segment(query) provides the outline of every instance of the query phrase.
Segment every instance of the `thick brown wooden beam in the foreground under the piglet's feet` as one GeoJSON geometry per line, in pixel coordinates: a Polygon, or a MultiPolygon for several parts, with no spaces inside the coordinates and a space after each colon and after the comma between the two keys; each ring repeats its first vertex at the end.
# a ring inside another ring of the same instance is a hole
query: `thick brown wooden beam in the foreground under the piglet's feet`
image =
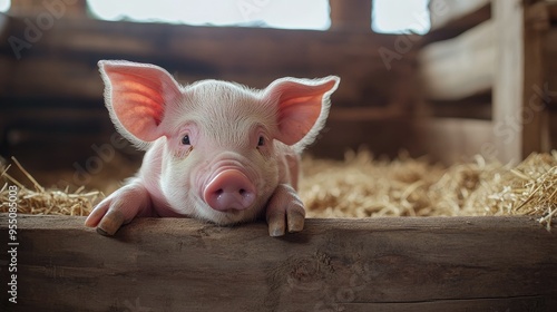
{"type": "Polygon", "coordinates": [[[530,217],[307,220],[284,238],[263,223],[141,218],[105,237],[82,222],[18,217],[19,303],[2,289],[2,311],[557,309],[557,235],[530,217]]]}

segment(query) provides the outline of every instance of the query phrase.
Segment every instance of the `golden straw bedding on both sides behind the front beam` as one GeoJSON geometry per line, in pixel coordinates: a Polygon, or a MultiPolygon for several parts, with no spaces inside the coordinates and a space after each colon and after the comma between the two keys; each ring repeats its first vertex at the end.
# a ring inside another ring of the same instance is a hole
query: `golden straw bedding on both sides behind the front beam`
{"type": "MultiPolygon", "coordinates": [[[[532,154],[510,168],[481,157],[442,167],[405,155],[374,159],[362,150],[346,153],[344,162],[305,157],[302,168],[300,195],[309,217],[532,215],[549,228],[557,211],[557,152],[532,154]]],[[[88,215],[104,196],[82,187],[45,189],[26,175],[35,189],[2,173],[19,187],[20,213],[88,215]]],[[[8,211],[8,182],[0,212],[8,211]]]]}

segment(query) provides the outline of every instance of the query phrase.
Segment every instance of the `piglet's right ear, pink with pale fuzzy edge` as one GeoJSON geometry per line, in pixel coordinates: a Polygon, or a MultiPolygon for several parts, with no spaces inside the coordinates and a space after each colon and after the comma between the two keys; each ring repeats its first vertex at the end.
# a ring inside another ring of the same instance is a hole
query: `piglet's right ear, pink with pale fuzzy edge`
{"type": "Polygon", "coordinates": [[[329,97],[339,86],[340,78],[322,79],[282,78],[265,89],[265,97],[277,106],[276,139],[300,148],[311,144],[325,124],[329,97]]]}

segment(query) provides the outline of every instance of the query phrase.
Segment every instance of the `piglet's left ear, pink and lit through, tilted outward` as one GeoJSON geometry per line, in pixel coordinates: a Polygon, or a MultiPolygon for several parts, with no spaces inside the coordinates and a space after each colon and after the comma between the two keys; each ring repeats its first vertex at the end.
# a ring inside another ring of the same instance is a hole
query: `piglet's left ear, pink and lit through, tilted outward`
{"type": "Polygon", "coordinates": [[[180,96],[179,86],[163,68],[123,60],[101,60],[105,101],[118,130],[141,145],[165,134],[167,105],[180,96]]]}

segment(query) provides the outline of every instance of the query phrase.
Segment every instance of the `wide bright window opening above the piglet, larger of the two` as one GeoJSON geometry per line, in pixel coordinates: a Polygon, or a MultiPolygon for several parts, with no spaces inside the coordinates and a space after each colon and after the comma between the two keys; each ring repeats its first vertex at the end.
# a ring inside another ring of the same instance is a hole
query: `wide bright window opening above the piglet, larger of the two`
{"type": "Polygon", "coordinates": [[[328,0],[88,0],[102,20],[325,30],[328,0]]]}

